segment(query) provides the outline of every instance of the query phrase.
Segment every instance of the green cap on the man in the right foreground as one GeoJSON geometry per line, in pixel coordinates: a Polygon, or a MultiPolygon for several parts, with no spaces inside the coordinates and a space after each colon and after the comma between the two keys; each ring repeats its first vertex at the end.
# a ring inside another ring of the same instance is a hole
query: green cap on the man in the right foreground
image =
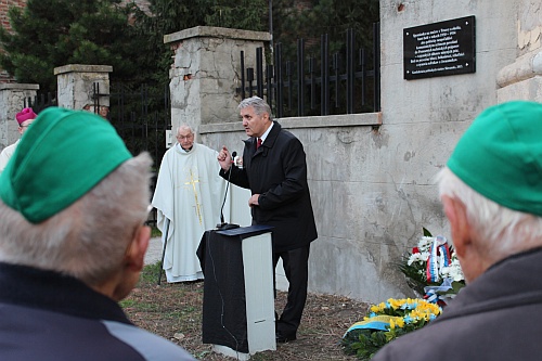
{"type": "Polygon", "coordinates": [[[487,198],[542,216],[542,104],[487,108],[460,139],[448,167],[487,198]]]}

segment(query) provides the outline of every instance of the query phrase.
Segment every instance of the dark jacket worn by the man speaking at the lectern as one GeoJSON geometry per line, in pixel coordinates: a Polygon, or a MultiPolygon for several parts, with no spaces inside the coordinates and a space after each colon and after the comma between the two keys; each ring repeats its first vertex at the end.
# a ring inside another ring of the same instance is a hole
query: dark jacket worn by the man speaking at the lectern
{"type": "MultiPolygon", "coordinates": [[[[307,183],[307,162],[301,142],[274,121],[263,144],[244,141],[243,168],[232,166],[230,181],[260,194],[251,208],[253,223],[273,229],[273,252],[299,248],[318,237],[307,183]]],[[[220,175],[228,179],[228,172],[220,175]]]]}

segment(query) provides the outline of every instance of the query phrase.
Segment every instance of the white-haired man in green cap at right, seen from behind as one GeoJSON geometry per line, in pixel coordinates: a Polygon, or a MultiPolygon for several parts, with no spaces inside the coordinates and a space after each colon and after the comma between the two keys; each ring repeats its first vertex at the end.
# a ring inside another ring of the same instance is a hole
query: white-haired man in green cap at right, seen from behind
{"type": "Polygon", "coordinates": [[[540,360],[542,104],[482,112],[438,179],[467,286],[373,360],[540,360]]]}

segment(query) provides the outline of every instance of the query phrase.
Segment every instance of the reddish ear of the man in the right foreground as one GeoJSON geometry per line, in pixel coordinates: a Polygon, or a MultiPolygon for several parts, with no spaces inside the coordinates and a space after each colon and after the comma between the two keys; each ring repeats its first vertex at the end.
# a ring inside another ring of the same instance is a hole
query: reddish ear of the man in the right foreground
{"type": "Polygon", "coordinates": [[[468,228],[465,205],[461,201],[448,195],[443,195],[441,201],[444,206],[444,214],[450,221],[452,243],[455,253],[459,257],[464,257],[470,244],[470,231],[468,228]]]}

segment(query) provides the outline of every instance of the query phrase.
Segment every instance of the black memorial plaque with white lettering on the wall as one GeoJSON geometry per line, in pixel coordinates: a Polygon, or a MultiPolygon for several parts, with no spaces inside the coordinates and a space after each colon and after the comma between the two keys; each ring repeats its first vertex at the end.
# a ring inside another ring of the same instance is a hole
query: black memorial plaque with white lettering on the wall
{"type": "Polygon", "coordinates": [[[476,72],[475,16],[403,29],[404,79],[476,72]]]}

